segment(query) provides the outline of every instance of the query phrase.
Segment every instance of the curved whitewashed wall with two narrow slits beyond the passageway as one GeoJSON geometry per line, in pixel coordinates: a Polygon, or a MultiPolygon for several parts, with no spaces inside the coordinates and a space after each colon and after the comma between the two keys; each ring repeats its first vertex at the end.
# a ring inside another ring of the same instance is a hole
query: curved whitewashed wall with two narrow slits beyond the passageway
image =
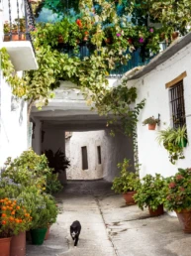
{"type": "Polygon", "coordinates": [[[71,166],[67,179],[112,181],[119,174],[117,164],[124,158],[134,159],[131,140],[121,133],[113,138],[108,131],[73,132],[65,142],[66,157],[71,166]],[[87,147],[88,170],[82,170],[81,147],[87,147]],[[101,165],[98,164],[97,147],[101,147],[101,165]]]}

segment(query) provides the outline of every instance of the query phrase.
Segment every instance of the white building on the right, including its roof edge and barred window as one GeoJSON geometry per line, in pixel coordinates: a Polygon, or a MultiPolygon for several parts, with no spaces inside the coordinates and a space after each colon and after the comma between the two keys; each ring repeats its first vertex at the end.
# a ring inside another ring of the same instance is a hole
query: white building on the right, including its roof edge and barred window
{"type": "Polygon", "coordinates": [[[130,76],[128,86],[138,88],[137,102],[143,98],[146,99],[138,123],[139,159],[140,164],[142,164],[141,177],[155,173],[168,177],[174,175],[178,168],[190,168],[191,34],[178,39],[137,74],[130,76]],[[172,93],[175,93],[173,97],[177,101],[175,107],[172,107],[172,93]],[[178,111],[178,107],[182,108],[183,106],[190,144],[184,149],[185,159],[178,160],[175,165],[172,165],[168,159],[168,152],[156,141],[157,131],[173,127],[172,115],[175,114],[174,111],[178,111]],[[160,115],[160,125],[156,127],[155,131],[149,131],[146,126],[143,126],[143,120],[149,116],[157,118],[158,114],[160,115]]]}

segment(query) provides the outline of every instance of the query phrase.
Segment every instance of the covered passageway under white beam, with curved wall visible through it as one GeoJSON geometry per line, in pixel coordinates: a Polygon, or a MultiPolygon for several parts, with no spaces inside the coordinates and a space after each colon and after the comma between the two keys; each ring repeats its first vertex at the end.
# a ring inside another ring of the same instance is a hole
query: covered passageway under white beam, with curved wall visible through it
{"type": "MultiPolygon", "coordinates": [[[[38,154],[59,148],[66,153],[71,162],[69,180],[112,181],[124,158],[134,164],[132,138],[118,132],[120,123],[113,127],[117,132],[112,137],[107,118],[90,111],[79,89],[61,86],[43,110],[33,108],[31,117],[35,124],[33,149],[38,154]]],[[[64,183],[65,174],[60,179],[64,183]]]]}

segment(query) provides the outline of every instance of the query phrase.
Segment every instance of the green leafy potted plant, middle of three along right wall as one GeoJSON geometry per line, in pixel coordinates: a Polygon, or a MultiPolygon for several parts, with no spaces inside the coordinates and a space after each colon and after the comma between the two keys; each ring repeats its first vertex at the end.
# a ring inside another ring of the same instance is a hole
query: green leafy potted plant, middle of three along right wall
{"type": "Polygon", "coordinates": [[[146,175],[135,194],[135,201],[143,210],[143,207],[148,206],[151,216],[163,214],[163,190],[164,179],[159,175],[146,175]]]}

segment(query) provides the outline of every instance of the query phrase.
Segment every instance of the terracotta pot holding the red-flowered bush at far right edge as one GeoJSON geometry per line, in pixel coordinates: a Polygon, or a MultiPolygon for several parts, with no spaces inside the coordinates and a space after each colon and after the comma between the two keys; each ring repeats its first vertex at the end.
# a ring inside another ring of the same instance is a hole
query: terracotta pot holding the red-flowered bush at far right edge
{"type": "Polygon", "coordinates": [[[182,209],[180,212],[175,212],[183,231],[185,233],[191,233],[191,209],[182,209]]]}

